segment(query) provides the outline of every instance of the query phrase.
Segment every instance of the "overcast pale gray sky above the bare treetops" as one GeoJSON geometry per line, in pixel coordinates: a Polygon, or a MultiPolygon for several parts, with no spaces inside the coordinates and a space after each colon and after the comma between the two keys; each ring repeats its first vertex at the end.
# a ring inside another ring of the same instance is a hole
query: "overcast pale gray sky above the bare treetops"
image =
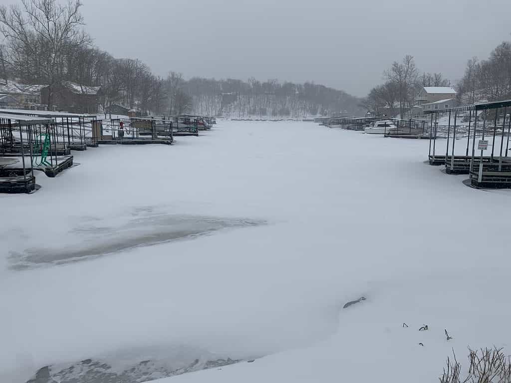
{"type": "Polygon", "coordinates": [[[452,81],[511,39],[511,0],[83,0],[86,29],[155,74],[314,81],[364,96],[406,54],[452,81]]]}

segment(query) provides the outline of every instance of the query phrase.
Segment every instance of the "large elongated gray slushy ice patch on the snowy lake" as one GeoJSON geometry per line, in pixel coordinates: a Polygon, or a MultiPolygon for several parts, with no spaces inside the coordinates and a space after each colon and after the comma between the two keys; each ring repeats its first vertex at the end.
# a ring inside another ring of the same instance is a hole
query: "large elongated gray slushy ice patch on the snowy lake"
{"type": "Polygon", "coordinates": [[[60,265],[176,240],[190,239],[215,231],[263,225],[262,220],[201,217],[155,212],[136,208],[127,220],[81,217],[80,223],[62,237],[46,238],[43,246],[9,254],[10,268],[24,270],[42,265],[60,265]]]}

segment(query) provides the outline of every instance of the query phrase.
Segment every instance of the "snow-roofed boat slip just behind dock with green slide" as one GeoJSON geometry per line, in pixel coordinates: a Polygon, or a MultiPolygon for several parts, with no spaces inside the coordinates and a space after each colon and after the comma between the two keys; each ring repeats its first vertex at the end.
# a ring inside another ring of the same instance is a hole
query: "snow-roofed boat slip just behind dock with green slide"
{"type": "Polygon", "coordinates": [[[96,115],[27,109],[0,109],[0,113],[53,119],[56,143],[65,149],[86,150],[98,146],[96,115]]]}

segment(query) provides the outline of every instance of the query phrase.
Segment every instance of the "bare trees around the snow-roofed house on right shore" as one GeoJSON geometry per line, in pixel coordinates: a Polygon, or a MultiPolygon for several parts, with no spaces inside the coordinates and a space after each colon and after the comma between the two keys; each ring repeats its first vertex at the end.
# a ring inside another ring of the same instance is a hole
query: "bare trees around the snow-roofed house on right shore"
{"type": "Polygon", "coordinates": [[[383,84],[369,91],[362,105],[392,117],[405,116],[424,86],[453,85],[459,105],[511,99],[511,42],[503,41],[486,60],[477,57],[468,60],[463,77],[456,84],[451,84],[442,73],[421,74],[410,55],[401,62],[394,61],[384,71],[384,78],[383,84]]]}

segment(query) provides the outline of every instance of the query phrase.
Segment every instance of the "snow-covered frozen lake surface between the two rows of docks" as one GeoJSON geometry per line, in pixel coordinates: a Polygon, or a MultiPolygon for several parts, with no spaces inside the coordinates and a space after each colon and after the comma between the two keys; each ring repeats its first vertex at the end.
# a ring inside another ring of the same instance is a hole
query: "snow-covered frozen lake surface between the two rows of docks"
{"type": "Polygon", "coordinates": [[[74,152],[0,195],[0,381],[231,358],[169,381],[430,382],[452,348],[511,353],[511,193],[425,164],[428,145],[222,121],[74,152]]]}

